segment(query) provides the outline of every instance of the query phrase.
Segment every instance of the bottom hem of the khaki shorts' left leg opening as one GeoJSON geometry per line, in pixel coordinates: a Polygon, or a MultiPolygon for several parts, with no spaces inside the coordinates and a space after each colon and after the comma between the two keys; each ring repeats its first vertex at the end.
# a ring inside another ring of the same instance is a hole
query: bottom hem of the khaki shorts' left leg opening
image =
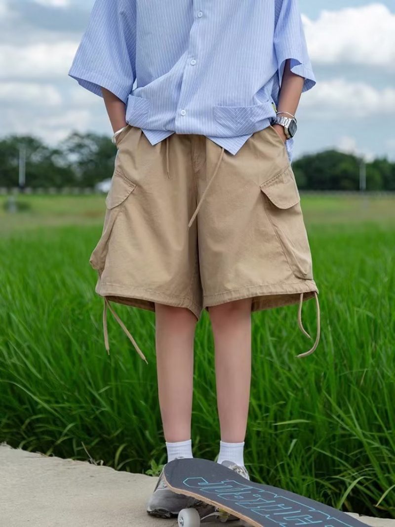
{"type": "Polygon", "coordinates": [[[177,297],[159,291],[148,290],[143,287],[127,288],[115,284],[97,284],[95,291],[98,295],[106,297],[112,302],[125,304],[131,307],[155,311],[155,302],[174,307],[186,307],[190,309],[197,320],[200,319],[203,308],[187,297],[177,297]]]}

